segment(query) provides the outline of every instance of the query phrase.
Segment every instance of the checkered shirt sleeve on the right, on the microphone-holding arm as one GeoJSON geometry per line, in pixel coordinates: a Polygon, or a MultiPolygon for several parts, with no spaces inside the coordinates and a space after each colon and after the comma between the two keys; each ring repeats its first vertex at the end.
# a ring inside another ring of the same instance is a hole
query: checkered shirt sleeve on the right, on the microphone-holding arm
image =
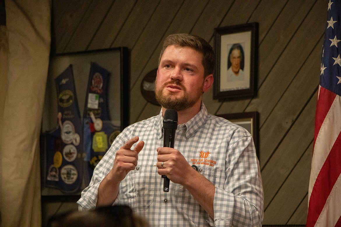
{"type": "Polygon", "coordinates": [[[252,136],[238,131],[227,145],[223,188],[216,187],[214,225],[262,226],[264,195],[259,162],[252,136]]]}

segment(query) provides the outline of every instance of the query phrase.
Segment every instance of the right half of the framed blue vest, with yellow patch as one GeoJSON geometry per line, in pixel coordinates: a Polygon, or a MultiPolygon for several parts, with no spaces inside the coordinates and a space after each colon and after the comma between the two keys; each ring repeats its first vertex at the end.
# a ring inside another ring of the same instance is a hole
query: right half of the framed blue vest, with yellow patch
{"type": "Polygon", "coordinates": [[[83,115],[84,151],[88,174],[85,178],[86,185],[90,182],[93,169],[120,133],[120,126],[115,126],[109,117],[107,103],[109,76],[108,70],[91,62],[83,115]]]}

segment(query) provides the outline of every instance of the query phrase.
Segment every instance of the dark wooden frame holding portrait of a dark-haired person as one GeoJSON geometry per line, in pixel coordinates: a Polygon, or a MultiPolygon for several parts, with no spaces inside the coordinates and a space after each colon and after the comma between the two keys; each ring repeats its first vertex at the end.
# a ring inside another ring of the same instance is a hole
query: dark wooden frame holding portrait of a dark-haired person
{"type": "Polygon", "coordinates": [[[257,91],[258,23],[215,28],[214,52],[213,99],[254,97],[257,91]]]}

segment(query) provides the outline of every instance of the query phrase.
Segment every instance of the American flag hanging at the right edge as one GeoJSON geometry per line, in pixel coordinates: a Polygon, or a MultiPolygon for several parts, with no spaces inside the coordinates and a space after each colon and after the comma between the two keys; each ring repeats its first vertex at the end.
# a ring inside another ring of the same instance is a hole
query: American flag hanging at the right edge
{"type": "Polygon", "coordinates": [[[316,104],[307,227],[341,226],[341,0],[329,1],[316,104]]]}

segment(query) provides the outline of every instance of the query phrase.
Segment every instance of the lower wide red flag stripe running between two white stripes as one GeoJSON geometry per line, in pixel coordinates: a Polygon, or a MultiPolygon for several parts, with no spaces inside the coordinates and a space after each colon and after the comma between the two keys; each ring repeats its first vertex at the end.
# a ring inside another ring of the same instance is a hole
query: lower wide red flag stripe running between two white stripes
{"type": "Polygon", "coordinates": [[[331,189],[341,174],[341,132],[339,133],[329,155],[317,175],[310,195],[307,226],[314,226],[327,201],[331,189]]]}

